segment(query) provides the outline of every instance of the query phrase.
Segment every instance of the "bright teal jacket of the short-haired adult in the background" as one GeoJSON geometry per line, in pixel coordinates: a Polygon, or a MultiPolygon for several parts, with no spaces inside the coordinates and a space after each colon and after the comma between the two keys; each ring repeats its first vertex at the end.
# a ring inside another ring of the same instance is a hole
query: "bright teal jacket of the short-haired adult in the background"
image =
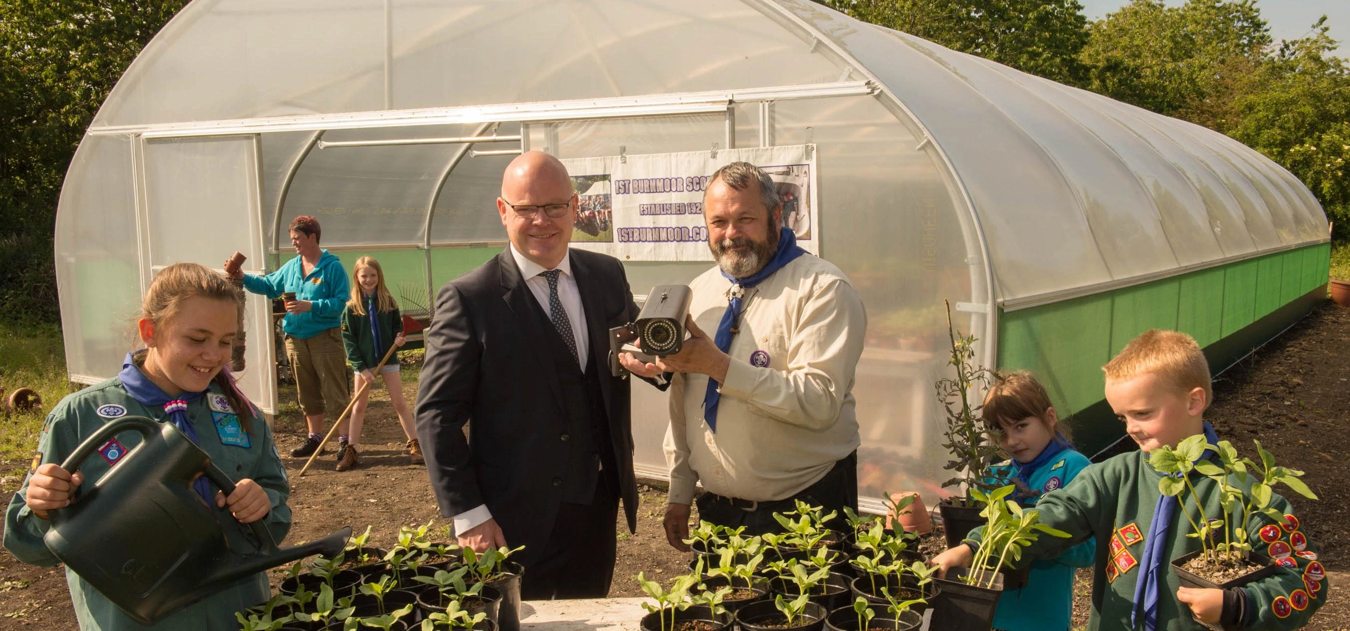
{"type": "Polygon", "coordinates": [[[288,260],[281,270],[266,276],[251,274],[244,275],[244,289],[267,298],[281,298],[282,293],[294,291],[297,301],[309,301],[313,305],[306,313],[288,313],[281,320],[281,330],[292,337],[308,340],[328,329],[340,325],[342,311],[347,309],[347,299],[351,298],[351,280],[347,270],[336,256],[321,251],[319,264],[304,274],[300,256],[288,260]]]}

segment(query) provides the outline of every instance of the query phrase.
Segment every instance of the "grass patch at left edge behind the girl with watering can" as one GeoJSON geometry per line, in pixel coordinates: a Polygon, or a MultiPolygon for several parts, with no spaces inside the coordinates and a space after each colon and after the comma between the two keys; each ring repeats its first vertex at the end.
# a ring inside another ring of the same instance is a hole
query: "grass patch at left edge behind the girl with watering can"
{"type": "Polygon", "coordinates": [[[42,406],[34,411],[0,415],[0,475],[14,475],[28,467],[47,411],[72,392],[65,356],[61,329],[55,325],[20,326],[0,321],[0,357],[4,357],[0,387],[5,388],[5,396],[19,387],[42,395],[42,406]]]}

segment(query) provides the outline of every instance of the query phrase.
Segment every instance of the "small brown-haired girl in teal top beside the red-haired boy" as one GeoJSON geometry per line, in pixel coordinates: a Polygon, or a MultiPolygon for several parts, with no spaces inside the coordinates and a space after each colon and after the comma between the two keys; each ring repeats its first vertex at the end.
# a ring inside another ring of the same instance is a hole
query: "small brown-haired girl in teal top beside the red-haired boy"
{"type": "MultiPolygon", "coordinates": [[[[984,398],[984,421],[998,427],[994,438],[1011,460],[991,468],[995,484],[1013,481],[1026,507],[1042,493],[1061,488],[1091,462],[1073,450],[1068,426],[1060,425],[1050,396],[1023,371],[1000,373],[984,398]]],[[[1031,564],[1021,589],[1004,589],[994,613],[994,628],[1004,631],[1066,631],[1073,612],[1075,568],[1091,568],[1096,542],[1088,539],[1050,561],[1031,564]]]]}

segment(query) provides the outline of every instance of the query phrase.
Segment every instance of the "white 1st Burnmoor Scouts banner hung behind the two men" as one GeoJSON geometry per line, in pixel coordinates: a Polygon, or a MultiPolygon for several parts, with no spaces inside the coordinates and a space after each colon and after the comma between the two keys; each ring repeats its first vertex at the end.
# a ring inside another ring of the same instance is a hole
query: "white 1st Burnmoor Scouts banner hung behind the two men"
{"type": "Polygon", "coordinates": [[[703,189],[717,169],[749,162],[774,178],[783,224],[819,253],[815,147],[756,147],[683,154],[578,158],[563,163],[580,200],[572,245],[620,260],[713,260],[703,189]]]}

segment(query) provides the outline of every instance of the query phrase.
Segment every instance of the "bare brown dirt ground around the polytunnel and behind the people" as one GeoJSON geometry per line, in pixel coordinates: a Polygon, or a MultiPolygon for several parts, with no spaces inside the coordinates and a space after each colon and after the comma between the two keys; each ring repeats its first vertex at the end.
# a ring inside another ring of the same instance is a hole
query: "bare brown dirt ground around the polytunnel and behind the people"
{"type": "MultiPolygon", "coordinates": [[[[1350,310],[1326,306],[1296,325],[1215,382],[1215,404],[1208,413],[1220,437],[1245,453],[1251,438],[1266,446],[1281,464],[1307,471],[1304,480],[1320,502],[1293,499],[1304,530],[1320,547],[1331,574],[1331,600],[1312,619],[1310,630],[1350,631],[1350,406],[1343,399],[1350,386],[1350,310]]],[[[405,394],[416,395],[416,365],[405,367],[405,394]]],[[[278,446],[289,452],[302,438],[302,422],[293,403],[293,388],[284,388],[284,414],[277,419],[278,446]],[[286,413],[285,410],[289,410],[286,413]]],[[[398,526],[435,520],[439,516],[427,473],[408,462],[404,435],[387,395],[375,391],[362,437],[362,467],[344,473],[333,469],[332,453],[321,456],[305,477],[294,477],[301,460],[284,458],[292,473],[290,506],[296,526],[288,542],[313,539],[351,524],[374,526],[375,545],[390,542],[398,526]]],[[[1256,456],[1254,453],[1249,453],[1256,456]]],[[[11,468],[15,462],[4,462],[11,468]]],[[[5,498],[18,480],[0,480],[5,498]]],[[[687,558],[671,549],[660,530],[664,492],[641,488],[636,534],[618,531],[618,565],[610,596],[640,596],[637,573],[675,576],[687,558]]],[[[441,530],[444,534],[446,531],[441,530]]],[[[441,537],[444,538],[444,537],[441,537]]],[[[1075,601],[1076,627],[1087,619],[1091,574],[1080,574],[1075,601]]],[[[63,572],[19,564],[0,550],[0,628],[34,631],[74,630],[74,615],[63,572]]]]}

